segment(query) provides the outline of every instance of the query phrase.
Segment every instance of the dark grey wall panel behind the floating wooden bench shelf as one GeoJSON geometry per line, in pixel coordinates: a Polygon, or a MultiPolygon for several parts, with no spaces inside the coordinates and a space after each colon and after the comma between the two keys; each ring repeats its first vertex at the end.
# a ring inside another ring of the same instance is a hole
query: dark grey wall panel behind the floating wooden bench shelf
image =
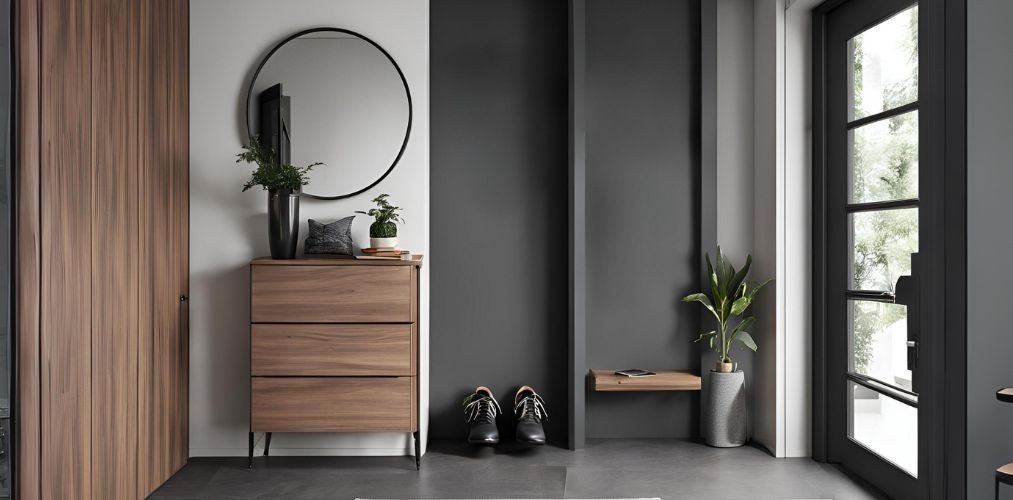
{"type": "MultiPolygon", "coordinates": [[[[700,2],[588,2],[588,366],[699,371],[700,2]]],[[[590,393],[589,437],[697,434],[697,393],[590,393]]]]}

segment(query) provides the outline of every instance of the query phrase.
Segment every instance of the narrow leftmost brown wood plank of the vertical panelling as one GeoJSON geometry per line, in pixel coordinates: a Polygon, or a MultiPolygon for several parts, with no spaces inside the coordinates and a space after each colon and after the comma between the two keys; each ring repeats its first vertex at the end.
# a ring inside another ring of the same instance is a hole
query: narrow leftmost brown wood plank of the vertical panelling
{"type": "Polygon", "coordinates": [[[38,181],[40,181],[40,54],[38,0],[20,0],[16,12],[16,113],[17,213],[15,290],[17,335],[18,496],[38,500],[42,465],[42,413],[40,387],[38,308],[41,272],[38,181]]]}

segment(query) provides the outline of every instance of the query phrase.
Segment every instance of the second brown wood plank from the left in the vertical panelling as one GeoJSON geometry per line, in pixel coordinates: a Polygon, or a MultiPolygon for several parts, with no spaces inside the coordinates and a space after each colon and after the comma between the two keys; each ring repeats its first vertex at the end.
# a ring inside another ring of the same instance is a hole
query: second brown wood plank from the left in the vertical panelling
{"type": "Polygon", "coordinates": [[[90,0],[42,3],[44,499],[91,498],[90,0]]]}

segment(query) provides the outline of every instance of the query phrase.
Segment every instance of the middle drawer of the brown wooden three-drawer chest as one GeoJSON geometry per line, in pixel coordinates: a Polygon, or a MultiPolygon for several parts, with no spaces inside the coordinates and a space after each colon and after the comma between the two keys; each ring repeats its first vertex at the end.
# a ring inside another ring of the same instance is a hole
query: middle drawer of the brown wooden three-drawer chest
{"type": "Polygon", "coordinates": [[[410,376],[414,325],[251,325],[253,376],[410,376]]]}

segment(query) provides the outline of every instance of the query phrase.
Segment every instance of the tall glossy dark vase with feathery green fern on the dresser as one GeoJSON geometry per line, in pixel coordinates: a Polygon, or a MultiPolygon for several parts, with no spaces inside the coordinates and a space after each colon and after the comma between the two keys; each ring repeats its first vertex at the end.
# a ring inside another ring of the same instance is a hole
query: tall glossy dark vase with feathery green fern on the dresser
{"type": "Polygon", "coordinates": [[[299,194],[304,185],[309,184],[309,172],[314,163],[302,168],[282,163],[275,151],[260,142],[260,138],[250,138],[250,145],[236,155],[236,163],[256,165],[253,175],[243,184],[243,191],[260,186],[267,191],[267,241],[270,256],[276,259],[291,259],[296,256],[299,242],[299,194]]]}

